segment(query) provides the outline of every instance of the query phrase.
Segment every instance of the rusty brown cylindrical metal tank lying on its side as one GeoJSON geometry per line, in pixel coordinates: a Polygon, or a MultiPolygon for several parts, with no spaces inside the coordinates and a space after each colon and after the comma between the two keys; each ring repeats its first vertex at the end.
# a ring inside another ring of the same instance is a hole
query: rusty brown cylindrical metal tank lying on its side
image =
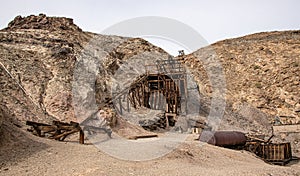
{"type": "Polygon", "coordinates": [[[203,131],[200,141],[222,147],[242,146],[247,138],[244,133],[238,131],[203,131]]]}

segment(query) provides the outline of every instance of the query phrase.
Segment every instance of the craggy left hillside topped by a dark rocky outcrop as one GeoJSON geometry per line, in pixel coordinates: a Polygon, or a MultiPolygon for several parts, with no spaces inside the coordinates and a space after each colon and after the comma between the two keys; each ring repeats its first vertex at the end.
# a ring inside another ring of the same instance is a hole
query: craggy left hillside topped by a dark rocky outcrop
{"type": "Polygon", "coordinates": [[[98,50],[105,54],[95,80],[99,105],[108,101],[108,75],[122,61],[146,51],[168,56],[142,39],[83,32],[69,18],[17,16],[0,31],[1,108],[21,121],[75,120],[74,69],[98,50]]]}

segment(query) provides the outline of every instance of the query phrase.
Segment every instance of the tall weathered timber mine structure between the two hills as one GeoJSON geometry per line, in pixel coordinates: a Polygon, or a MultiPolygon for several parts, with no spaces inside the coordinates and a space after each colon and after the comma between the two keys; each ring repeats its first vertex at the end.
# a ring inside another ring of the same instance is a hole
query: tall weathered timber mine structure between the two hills
{"type": "Polygon", "coordinates": [[[143,75],[118,91],[113,97],[119,114],[130,112],[131,108],[146,107],[165,112],[165,126],[173,126],[178,115],[187,113],[187,77],[179,61],[168,59],[146,65],[143,75]]]}

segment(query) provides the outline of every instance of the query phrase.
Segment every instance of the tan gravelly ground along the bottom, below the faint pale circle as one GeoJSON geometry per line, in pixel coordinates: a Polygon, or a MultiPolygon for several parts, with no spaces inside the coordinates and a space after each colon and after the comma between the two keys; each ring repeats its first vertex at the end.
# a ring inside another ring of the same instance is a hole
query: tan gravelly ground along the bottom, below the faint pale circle
{"type": "MultiPolygon", "coordinates": [[[[149,161],[113,158],[92,144],[57,142],[20,131],[2,144],[0,175],[300,175],[300,164],[274,166],[246,151],[200,145],[189,137],[164,157],[149,161]]],[[[77,136],[76,136],[77,137],[77,136]]]]}

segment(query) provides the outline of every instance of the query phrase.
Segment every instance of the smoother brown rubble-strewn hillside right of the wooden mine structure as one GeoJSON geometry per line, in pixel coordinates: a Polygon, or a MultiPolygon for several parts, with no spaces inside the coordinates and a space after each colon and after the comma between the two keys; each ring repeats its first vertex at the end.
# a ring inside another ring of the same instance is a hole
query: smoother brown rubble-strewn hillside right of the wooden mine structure
{"type": "Polygon", "coordinates": [[[180,57],[192,71],[200,92],[212,96],[209,63],[222,66],[226,98],[235,111],[247,107],[272,121],[300,122],[300,31],[264,32],[228,39],[180,57]]]}

